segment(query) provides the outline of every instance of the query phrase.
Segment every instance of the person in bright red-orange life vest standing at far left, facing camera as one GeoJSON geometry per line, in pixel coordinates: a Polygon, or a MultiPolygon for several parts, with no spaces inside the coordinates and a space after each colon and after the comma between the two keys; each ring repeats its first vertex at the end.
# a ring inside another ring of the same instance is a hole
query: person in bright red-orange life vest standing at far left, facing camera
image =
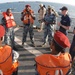
{"type": "Polygon", "coordinates": [[[14,16],[11,12],[11,9],[7,9],[6,12],[3,12],[2,14],[3,18],[1,20],[1,23],[6,30],[4,43],[10,45],[14,50],[16,50],[17,48],[15,47],[14,42],[14,26],[16,26],[16,23],[14,21],[14,16]]]}

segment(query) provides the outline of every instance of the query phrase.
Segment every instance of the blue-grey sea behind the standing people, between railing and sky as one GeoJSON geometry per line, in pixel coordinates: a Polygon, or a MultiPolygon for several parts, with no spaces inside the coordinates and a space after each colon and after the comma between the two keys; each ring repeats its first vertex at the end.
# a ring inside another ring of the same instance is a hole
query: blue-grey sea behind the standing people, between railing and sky
{"type": "Polygon", "coordinates": [[[0,4],[0,11],[3,12],[3,11],[6,11],[7,8],[11,8],[12,9],[12,12],[21,12],[25,5],[26,4],[30,4],[31,5],[31,8],[34,10],[35,14],[38,13],[38,9],[39,9],[39,4],[40,3],[43,3],[46,8],[48,5],[51,5],[53,6],[53,8],[59,12],[60,8],[62,6],[66,6],[68,7],[69,9],[69,15],[72,17],[72,18],[75,18],[75,6],[72,6],[72,5],[67,5],[67,4],[59,4],[59,3],[51,3],[51,2],[40,2],[40,1],[35,1],[35,2],[10,2],[10,3],[2,3],[0,4]]]}

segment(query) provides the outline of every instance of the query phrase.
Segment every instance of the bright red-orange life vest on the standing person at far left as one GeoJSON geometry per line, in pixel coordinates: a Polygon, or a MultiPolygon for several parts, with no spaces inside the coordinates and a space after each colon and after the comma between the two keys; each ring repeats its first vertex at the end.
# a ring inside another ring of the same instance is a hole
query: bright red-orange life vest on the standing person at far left
{"type": "Polygon", "coordinates": [[[3,14],[3,17],[6,20],[6,27],[7,28],[16,26],[16,23],[14,21],[14,17],[13,17],[12,13],[10,14],[10,16],[7,16],[6,12],[3,12],[2,14],[3,14]]]}

